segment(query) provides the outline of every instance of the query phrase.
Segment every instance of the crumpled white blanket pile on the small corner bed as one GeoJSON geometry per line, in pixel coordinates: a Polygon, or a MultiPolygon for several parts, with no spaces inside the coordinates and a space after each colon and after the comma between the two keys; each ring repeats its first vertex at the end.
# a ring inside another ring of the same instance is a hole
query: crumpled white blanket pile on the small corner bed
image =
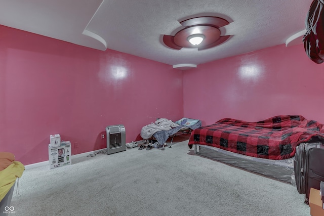
{"type": "Polygon", "coordinates": [[[166,119],[166,118],[159,118],[155,121],[155,123],[150,123],[144,127],[142,127],[141,137],[143,139],[149,139],[158,131],[169,131],[174,127],[179,126],[179,124],[166,119]]]}

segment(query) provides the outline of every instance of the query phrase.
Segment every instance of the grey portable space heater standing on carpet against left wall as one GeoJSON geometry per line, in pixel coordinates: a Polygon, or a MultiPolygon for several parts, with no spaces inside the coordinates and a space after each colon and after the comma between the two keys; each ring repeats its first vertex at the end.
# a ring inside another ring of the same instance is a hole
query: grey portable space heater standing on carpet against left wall
{"type": "Polygon", "coordinates": [[[123,124],[106,127],[107,154],[126,151],[126,132],[123,124]]]}

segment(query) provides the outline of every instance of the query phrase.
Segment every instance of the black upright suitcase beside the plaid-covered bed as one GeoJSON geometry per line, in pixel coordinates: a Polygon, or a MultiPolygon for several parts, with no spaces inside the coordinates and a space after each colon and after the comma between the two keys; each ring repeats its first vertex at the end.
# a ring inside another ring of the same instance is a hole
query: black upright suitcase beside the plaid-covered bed
{"type": "Polygon", "coordinates": [[[322,143],[301,143],[296,147],[294,158],[296,187],[305,194],[308,204],[310,188],[319,190],[324,181],[324,145],[322,143]]]}

